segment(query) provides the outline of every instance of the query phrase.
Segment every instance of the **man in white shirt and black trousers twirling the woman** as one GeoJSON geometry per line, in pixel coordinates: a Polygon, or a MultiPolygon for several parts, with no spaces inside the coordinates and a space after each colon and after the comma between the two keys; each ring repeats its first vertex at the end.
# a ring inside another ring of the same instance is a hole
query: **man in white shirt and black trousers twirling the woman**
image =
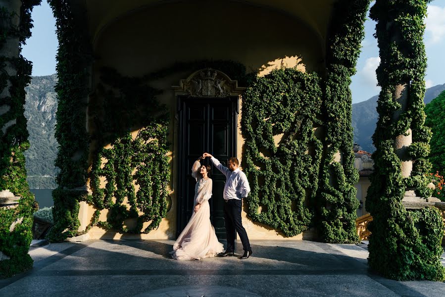
{"type": "Polygon", "coordinates": [[[218,256],[226,257],[234,255],[234,233],[236,230],[244,249],[244,254],[240,259],[247,259],[252,254],[252,248],[247,238],[246,229],[244,229],[241,223],[242,199],[246,198],[250,192],[246,174],[240,170],[238,159],[235,157],[230,158],[227,163],[228,167],[225,167],[218,159],[207,152],[204,152],[202,156],[210,157],[215,167],[226,176],[223,197],[226,201],[224,204],[224,221],[226,223],[227,248],[225,252],[219,253],[218,256]]]}

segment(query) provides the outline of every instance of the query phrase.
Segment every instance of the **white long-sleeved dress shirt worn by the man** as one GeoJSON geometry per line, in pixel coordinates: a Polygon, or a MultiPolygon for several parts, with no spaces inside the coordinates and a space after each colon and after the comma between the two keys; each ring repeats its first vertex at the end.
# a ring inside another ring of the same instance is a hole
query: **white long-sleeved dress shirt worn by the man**
{"type": "Polygon", "coordinates": [[[215,157],[211,157],[210,159],[215,167],[226,176],[223,198],[226,200],[241,200],[242,198],[247,197],[250,192],[250,187],[247,182],[246,174],[241,171],[240,168],[231,171],[229,168],[223,166],[215,157]]]}

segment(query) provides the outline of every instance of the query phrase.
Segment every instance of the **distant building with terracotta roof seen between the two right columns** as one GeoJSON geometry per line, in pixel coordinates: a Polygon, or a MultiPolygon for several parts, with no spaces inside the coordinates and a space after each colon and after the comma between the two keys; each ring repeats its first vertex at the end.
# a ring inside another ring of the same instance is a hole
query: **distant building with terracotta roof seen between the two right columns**
{"type": "Polygon", "coordinates": [[[371,185],[369,176],[374,171],[374,160],[372,159],[372,154],[361,150],[358,144],[354,144],[353,150],[355,154],[354,167],[358,170],[358,175],[360,176],[358,183],[355,185],[357,189],[355,197],[360,202],[360,206],[357,209],[357,217],[360,217],[369,213],[366,211],[366,194],[371,185]]]}

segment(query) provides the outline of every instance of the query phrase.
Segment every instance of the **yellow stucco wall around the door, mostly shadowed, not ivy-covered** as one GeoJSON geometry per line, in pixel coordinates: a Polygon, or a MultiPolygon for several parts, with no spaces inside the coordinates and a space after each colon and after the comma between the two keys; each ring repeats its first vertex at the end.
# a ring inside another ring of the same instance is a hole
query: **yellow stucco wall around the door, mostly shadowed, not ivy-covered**
{"type": "MultiPolygon", "coordinates": [[[[301,70],[324,69],[324,41],[299,20],[271,11],[266,7],[244,2],[176,2],[135,11],[115,20],[103,29],[94,44],[97,57],[93,65],[92,84],[99,83],[100,68],[115,68],[126,76],[142,76],[169,67],[175,62],[201,59],[224,59],[241,62],[250,71],[266,74],[284,59],[289,67],[299,63],[301,70]]],[[[157,230],[136,237],[142,239],[174,239],[176,236],[177,197],[177,142],[175,93],[172,86],[187,78],[197,69],[174,73],[152,83],[163,90],[157,99],[170,111],[169,156],[172,172],[170,189],[171,208],[157,230]]],[[[240,103],[242,104],[242,102],[240,103]]],[[[242,159],[244,139],[241,136],[241,117],[238,123],[237,157],[242,159]]],[[[87,123],[88,125],[88,123],[87,123]]],[[[137,131],[135,131],[137,133],[137,131]]],[[[81,203],[79,219],[85,230],[94,208],[81,203]]],[[[105,220],[107,210],[101,212],[105,220]]],[[[247,218],[243,224],[250,239],[285,239],[279,232],[247,218]]],[[[128,222],[131,224],[131,221],[128,222]]],[[[87,238],[121,238],[122,235],[93,227],[87,238]]],[[[302,235],[292,239],[301,239],[302,235]]]]}

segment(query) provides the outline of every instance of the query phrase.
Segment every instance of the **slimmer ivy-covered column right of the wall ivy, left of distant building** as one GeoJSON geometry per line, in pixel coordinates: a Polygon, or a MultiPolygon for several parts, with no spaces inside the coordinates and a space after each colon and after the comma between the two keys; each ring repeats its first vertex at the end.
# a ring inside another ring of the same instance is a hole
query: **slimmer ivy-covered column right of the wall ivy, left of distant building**
{"type": "Polygon", "coordinates": [[[320,171],[318,229],[330,243],[355,243],[358,201],[354,185],[358,173],[352,151],[351,76],[364,37],[370,0],[338,1],[333,13],[327,48],[324,94],[325,156],[320,171]]]}

